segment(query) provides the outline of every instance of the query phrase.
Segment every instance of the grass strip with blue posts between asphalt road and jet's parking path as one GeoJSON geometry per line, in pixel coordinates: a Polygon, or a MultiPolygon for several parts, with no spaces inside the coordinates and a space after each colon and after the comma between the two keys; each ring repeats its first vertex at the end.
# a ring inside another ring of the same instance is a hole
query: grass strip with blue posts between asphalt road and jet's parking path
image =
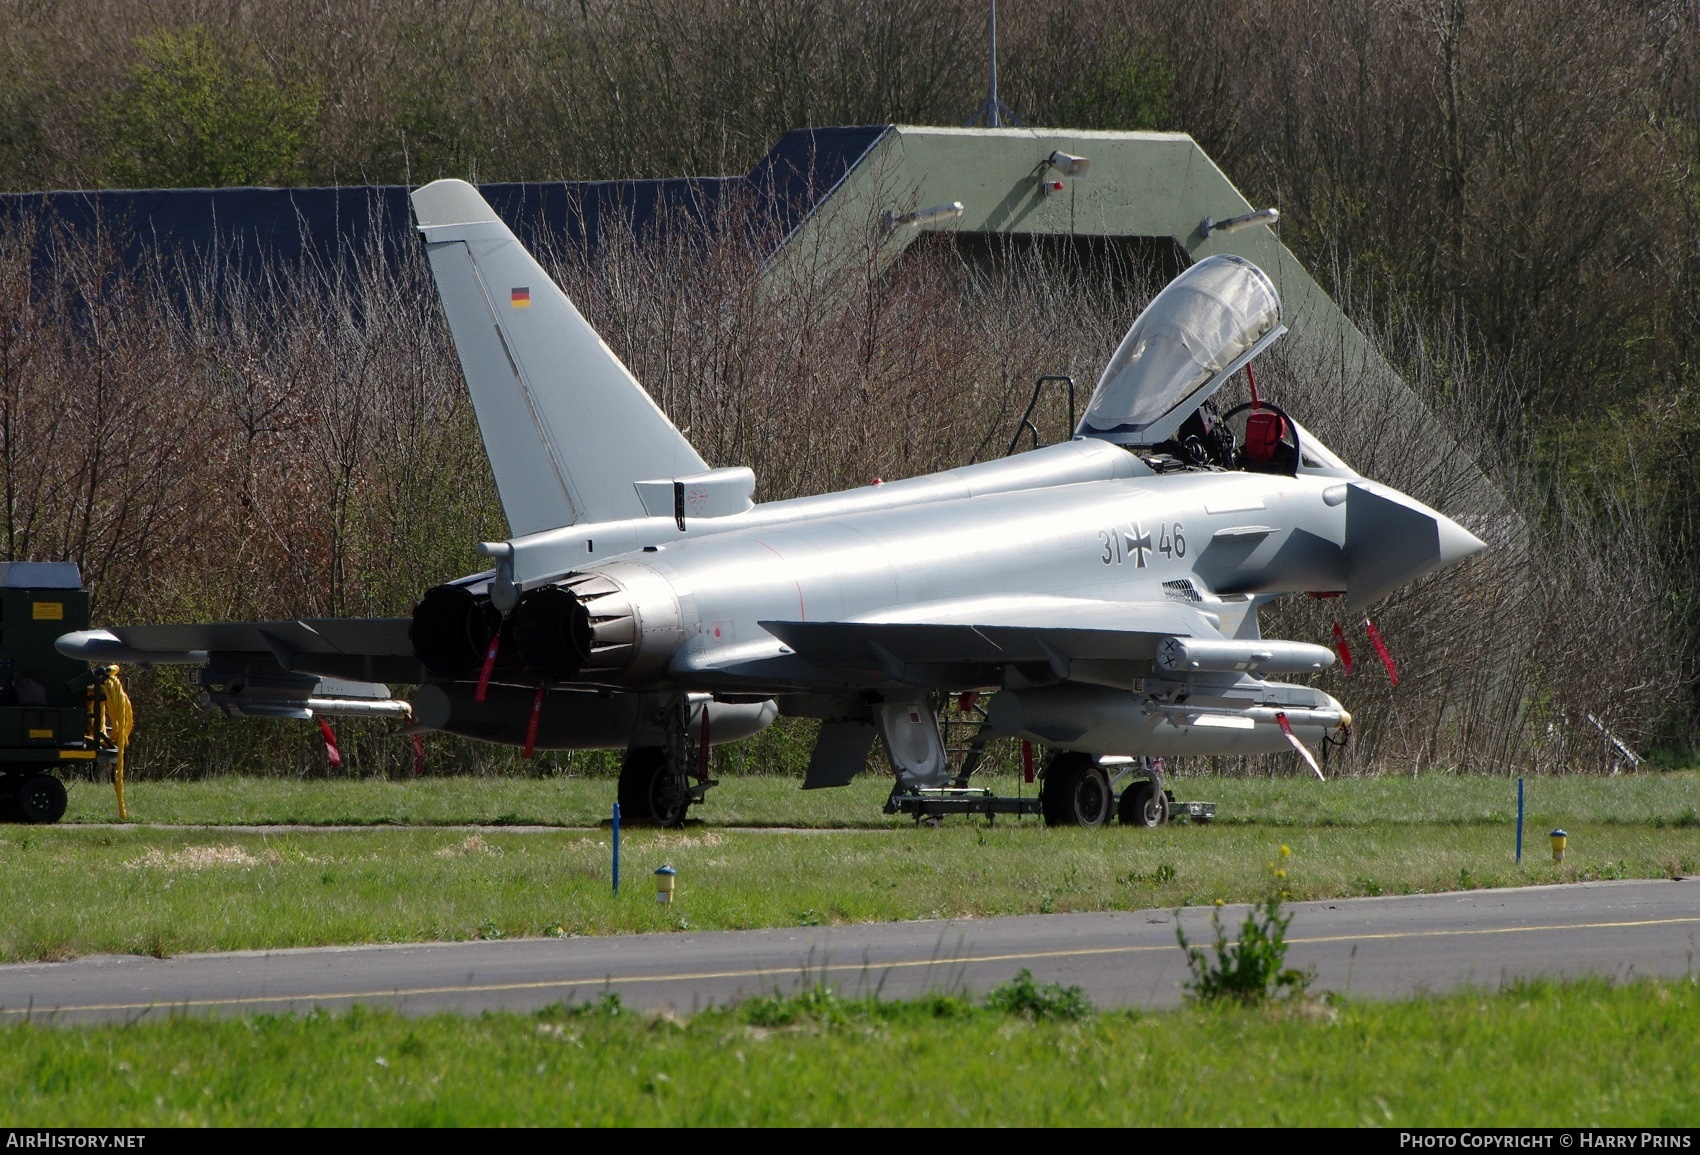
{"type": "Polygon", "coordinates": [[[605,830],[0,827],[0,961],[1241,902],[1282,844],[1294,898],[1700,871],[1700,828],[1566,823],[1569,859],[1535,839],[1522,868],[1503,823],[629,830],[619,896],[605,830]]]}

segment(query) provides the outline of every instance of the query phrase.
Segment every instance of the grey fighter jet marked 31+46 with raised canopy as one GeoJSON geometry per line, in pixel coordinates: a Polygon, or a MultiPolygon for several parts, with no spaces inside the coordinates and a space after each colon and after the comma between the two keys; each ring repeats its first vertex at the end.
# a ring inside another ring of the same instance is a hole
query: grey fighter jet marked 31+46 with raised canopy
{"type": "Polygon", "coordinates": [[[1139,315],[1073,437],[998,461],[782,502],[709,468],[471,185],[411,196],[510,536],[411,617],[126,626],[95,662],[202,665],[204,703],[396,714],[525,748],[624,748],[627,818],[683,822],[711,745],[821,720],[802,786],[876,738],[896,789],[954,771],[933,704],[986,692],[991,733],[1046,750],[1052,825],[1163,822],[1130,757],[1272,754],[1350,730],[1265,638],[1278,597],[1362,607],[1482,549],[1360,476],[1280,407],[1214,395],[1284,332],[1275,286],[1209,257],[1139,315]],[[418,686],[411,701],[384,682],[418,686]]]}

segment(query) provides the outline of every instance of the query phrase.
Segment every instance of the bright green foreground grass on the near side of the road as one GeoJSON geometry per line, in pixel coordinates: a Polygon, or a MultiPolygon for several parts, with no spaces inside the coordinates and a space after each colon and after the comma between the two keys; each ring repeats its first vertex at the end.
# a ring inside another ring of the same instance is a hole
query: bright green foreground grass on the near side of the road
{"type": "Polygon", "coordinates": [[[1692,981],[1028,1019],[814,992],[617,1007],[0,1027],[0,1126],[1692,1128],[1692,981]]]}

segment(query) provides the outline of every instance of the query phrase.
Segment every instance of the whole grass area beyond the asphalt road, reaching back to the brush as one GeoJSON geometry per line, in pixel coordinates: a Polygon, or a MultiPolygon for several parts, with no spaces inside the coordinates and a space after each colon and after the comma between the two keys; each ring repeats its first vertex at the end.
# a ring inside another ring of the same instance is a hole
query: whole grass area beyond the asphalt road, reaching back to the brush
{"type": "MultiPolygon", "coordinates": [[[[808,794],[784,779],[728,779],[704,808],[714,825],[626,832],[619,896],[609,834],[597,828],[0,827],[0,961],[1236,902],[1261,893],[1280,844],[1294,851],[1295,898],[1700,873],[1700,776],[1686,772],[1532,781],[1523,866],[1511,861],[1515,784],[1504,779],[1183,786],[1214,796],[1229,820],[1163,830],[1047,830],[1035,820],[925,828],[877,813],[877,779],[808,794]],[[824,827],[843,811],[884,828],[717,828],[762,816],[824,827]],[[1571,835],[1562,866],[1544,837],[1556,823],[1571,835]],[[663,862],[680,871],[672,910],[654,905],[648,879],[663,862]]],[[[612,793],[607,779],[235,781],[148,784],[136,810],[158,806],[178,822],[279,822],[313,813],[314,791],[326,788],[343,794],[321,803],[321,820],[369,803],[367,818],[588,823],[590,806],[612,793]],[[498,791],[510,793],[479,810],[498,791]]]]}

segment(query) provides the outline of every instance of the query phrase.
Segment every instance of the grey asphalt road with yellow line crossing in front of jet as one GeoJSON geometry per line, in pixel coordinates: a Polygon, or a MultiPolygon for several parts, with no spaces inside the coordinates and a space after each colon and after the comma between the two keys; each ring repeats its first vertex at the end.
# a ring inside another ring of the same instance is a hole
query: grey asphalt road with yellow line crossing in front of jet
{"type": "MultiPolygon", "coordinates": [[[[1700,879],[1581,883],[1294,903],[1289,964],[1316,990],[1396,997],[1518,976],[1683,976],[1700,961],[1700,879]]],[[[1238,927],[1244,907],[1226,907],[1238,927]]],[[[840,993],[986,992],[1028,968],[1098,1007],[1171,1007],[1185,959],[1175,912],[1027,915],[782,930],[99,956],[0,966],[0,1021],[136,1021],[182,1012],[527,1010],[619,992],[695,1010],[826,981],[840,993]]],[[[1209,910],[1180,912],[1210,941],[1209,910]]]]}

